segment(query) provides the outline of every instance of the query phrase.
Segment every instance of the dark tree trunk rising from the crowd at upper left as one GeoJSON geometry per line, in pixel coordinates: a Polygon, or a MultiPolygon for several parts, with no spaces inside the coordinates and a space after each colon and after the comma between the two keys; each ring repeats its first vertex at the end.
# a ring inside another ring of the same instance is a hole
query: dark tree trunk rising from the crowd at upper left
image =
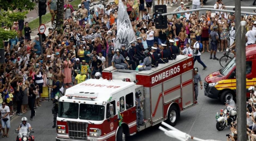
{"type": "Polygon", "coordinates": [[[56,27],[62,27],[64,14],[64,0],[57,1],[56,27]]]}

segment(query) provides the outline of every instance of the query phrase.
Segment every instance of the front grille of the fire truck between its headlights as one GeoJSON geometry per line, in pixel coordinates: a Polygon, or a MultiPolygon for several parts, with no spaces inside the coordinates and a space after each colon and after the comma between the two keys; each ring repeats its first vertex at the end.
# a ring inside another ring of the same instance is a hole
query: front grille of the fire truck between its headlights
{"type": "Polygon", "coordinates": [[[87,123],[68,121],[68,136],[71,139],[87,139],[87,123]]]}

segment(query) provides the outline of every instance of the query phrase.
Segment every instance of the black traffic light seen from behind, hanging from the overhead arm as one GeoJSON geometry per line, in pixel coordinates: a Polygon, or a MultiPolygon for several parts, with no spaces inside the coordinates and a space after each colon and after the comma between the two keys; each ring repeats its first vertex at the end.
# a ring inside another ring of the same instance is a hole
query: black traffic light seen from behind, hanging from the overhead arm
{"type": "Polygon", "coordinates": [[[157,16],[157,14],[163,14],[167,12],[166,5],[155,6],[155,25],[156,29],[167,28],[167,16],[157,16]]]}

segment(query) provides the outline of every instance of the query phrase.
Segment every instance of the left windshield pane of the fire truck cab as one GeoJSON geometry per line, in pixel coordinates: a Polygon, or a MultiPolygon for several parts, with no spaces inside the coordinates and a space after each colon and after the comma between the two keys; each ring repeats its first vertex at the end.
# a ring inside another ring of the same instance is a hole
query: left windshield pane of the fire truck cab
{"type": "Polygon", "coordinates": [[[59,102],[59,117],[78,118],[78,103],[59,102]]]}

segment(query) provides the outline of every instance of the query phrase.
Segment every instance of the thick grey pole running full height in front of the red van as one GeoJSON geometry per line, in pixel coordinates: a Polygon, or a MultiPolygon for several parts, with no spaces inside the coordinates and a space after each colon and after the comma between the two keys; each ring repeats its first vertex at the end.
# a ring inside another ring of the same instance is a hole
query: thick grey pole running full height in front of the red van
{"type": "Polygon", "coordinates": [[[236,107],[237,107],[237,140],[247,139],[246,133],[246,56],[245,56],[245,23],[241,23],[241,1],[235,0],[236,18],[236,107]],[[240,25],[241,24],[241,25],[240,25]],[[242,31],[242,34],[241,34],[242,31]],[[240,40],[242,39],[242,40],[240,40]]]}

